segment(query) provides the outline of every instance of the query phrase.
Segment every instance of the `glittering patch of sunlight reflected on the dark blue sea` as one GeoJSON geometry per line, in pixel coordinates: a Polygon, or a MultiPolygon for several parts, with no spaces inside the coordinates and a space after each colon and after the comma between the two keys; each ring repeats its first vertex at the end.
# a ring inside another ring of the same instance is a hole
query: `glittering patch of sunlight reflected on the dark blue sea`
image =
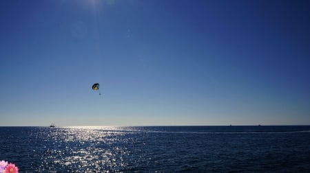
{"type": "Polygon", "coordinates": [[[130,127],[117,126],[49,128],[43,135],[45,151],[38,171],[128,170],[130,165],[124,158],[130,157],[134,147],[132,132],[130,127]]]}

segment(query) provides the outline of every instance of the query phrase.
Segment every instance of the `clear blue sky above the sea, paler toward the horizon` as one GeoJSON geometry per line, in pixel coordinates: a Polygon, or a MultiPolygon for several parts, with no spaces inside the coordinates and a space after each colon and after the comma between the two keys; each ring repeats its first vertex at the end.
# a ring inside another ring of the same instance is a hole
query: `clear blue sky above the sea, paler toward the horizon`
{"type": "Polygon", "coordinates": [[[309,9],[0,1],[0,126],[310,124],[309,9]]]}

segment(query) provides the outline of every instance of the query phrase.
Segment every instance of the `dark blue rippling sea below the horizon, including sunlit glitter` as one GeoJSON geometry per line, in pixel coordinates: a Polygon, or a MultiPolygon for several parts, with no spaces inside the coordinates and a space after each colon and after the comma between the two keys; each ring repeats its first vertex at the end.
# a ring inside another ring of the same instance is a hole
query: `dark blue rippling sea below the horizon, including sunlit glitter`
{"type": "Polygon", "coordinates": [[[20,172],[310,172],[310,126],[0,127],[20,172]]]}

